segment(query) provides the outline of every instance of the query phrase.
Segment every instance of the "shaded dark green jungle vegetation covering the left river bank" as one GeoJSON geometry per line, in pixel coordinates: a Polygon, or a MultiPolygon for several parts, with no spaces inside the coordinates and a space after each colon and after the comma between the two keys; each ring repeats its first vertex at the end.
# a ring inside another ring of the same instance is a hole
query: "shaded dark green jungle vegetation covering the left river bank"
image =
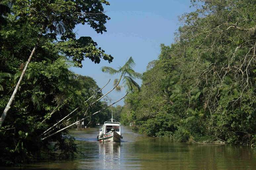
{"type": "Polygon", "coordinates": [[[94,126],[109,119],[111,109],[91,116],[107,107],[107,102],[98,100],[93,106],[85,102],[93,95],[91,100],[103,95],[93,78],[69,70],[82,67],[81,62],[86,58],[94,63],[112,62],[113,57],[97,47],[91,37],[76,39],[73,31],[77,24],[88,24],[96,33],[106,32],[105,23],[110,18],[105,15],[103,5],[109,3],[105,0],[0,2],[0,165],[56,157],[55,151],[63,158],[74,156],[77,152],[74,138],[63,129],[67,121],[73,123],[87,116],[85,124],[94,126]],[[12,93],[15,98],[8,108],[12,93]],[[71,117],[54,126],[66,115],[71,117]],[[59,129],[63,130],[49,137],[59,129]]]}

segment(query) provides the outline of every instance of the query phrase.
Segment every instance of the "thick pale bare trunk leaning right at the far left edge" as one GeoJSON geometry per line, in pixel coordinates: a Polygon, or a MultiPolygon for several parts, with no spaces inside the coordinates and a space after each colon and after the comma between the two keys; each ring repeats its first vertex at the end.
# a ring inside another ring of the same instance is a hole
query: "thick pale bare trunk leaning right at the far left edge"
{"type": "Polygon", "coordinates": [[[9,99],[9,102],[7,103],[7,105],[6,105],[5,109],[4,109],[4,112],[3,112],[3,114],[2,114],[2,116],[0,118],[0,127],[2,127],[2,125],[4,123],[4,120],[5,120],[5,117],[6,117],[7,113],[8,113],[8,111],[9,111],[9,109],[11,108],[11,105],[13,103],[15,95],[18,92],[18,89],[20,87],[21,80],[22,80],[22,78],[23,78],[23,76],[24,76],[24,74],[25,74],[25,72],[27,70],[27,66],[28,66],[28,64],[29,64],[33,54],[35,53],[36,48],[37,48],[37,44],[34,46],[32,52],[31,52],[31,54],[30,54],[30,56],[29,56],[29,58],[27,60],[27,63],[26,63],[26,65],[25,65],[25,67],[24,67],[24,69],[23,69],[23,71],[21,73],[20,79],[19,79],[19,81],[18,81],[18,83],[17,83],[17,85],[16,85],[16,87],[15,87],[15,89],[13,91],[13,94],[12,94],[11,98],[9,99]]]}

